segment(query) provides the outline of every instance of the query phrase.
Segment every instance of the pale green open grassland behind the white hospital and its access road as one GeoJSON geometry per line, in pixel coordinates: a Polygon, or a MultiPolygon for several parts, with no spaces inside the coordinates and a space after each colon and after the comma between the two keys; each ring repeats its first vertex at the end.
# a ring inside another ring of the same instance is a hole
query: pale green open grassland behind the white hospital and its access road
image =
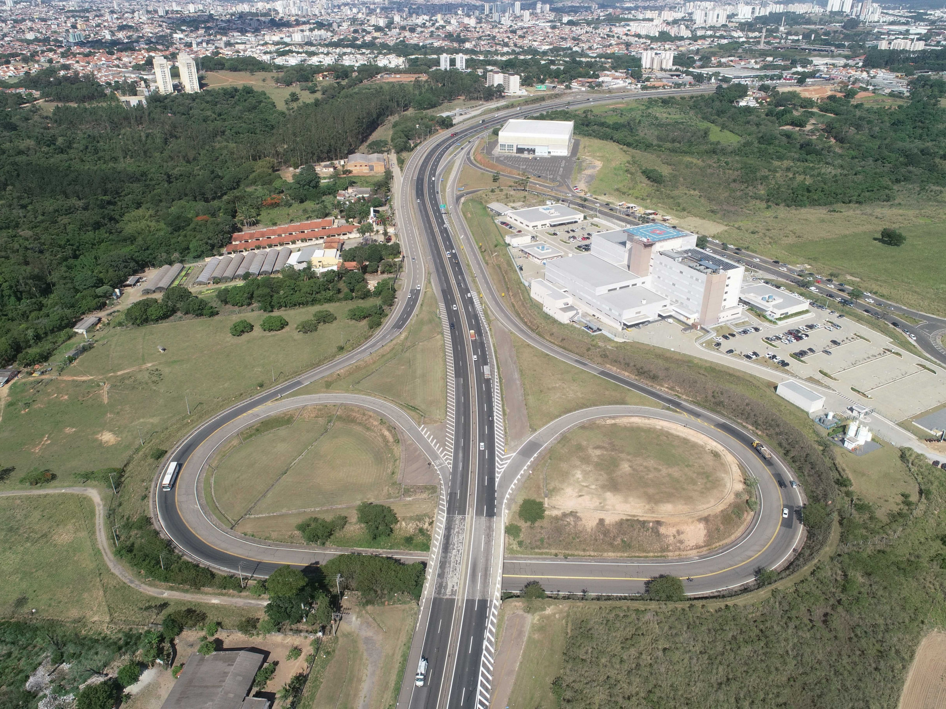
{"type": "MultiPolygon", "coordinates": [[[[615,120],[666,121],[683,131],[709,125],[678,106],[651,101],[632,101],[620,110],[602,112],[614,114],[615,120]]],[[[817,114],[819,121],[827,118],[817,114]]],[[[712,127],[709,139],[726,146],[733,143],[733,135],[712,127]]],[[[946,270],[946,255],[939,248],[946,220],[937,193],[901,191],[893,201],[870,204],[767,205],[762,193],[736,179],[738,174],[723,161],[657,148],[636,150],[586,137],[581,141],[581,157],[601,164],[591,184],[596,196],[606,194],[608,200],[666,212],[684,228],[782,261],[806,263],[825,276],[836,273],[841,281],[898,303],[946,313],[946,285],[937,278],[946,270]],[[664,182],[648,181],[642,168],[657,169],[664,182]],[[907,235],[904,246],[885,247],[875,241],[887,226],[902,229],[907,235]]]]}

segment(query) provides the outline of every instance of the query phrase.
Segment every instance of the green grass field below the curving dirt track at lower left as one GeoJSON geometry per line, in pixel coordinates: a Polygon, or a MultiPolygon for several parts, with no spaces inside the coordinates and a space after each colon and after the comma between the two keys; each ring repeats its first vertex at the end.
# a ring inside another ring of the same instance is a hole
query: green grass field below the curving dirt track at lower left
{"type": "Polygon", "coordinates": [[[96,545],[95,506],[81,494],[0,497],[0,618],[54,618],[88,627],[145,625],[193,606],[236,628],[259,615],[223,604],[163,600],[135,591],[109,570],[96,545]],[[36,609],[36,614],[31,611],[36,609]]]}

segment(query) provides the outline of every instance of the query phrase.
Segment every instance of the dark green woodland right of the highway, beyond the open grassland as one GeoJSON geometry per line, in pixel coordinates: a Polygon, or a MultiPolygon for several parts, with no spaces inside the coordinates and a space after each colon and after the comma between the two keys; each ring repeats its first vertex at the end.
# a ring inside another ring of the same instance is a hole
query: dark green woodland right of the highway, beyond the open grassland
{"type": "Polygon", "coordinates": [[[946,109],[939,103],[946,82],[924,75],[911,88],[910,101],[893,110],[830,96],[805,111],[815,104],[796,92],[775,94],[764,110],[739,107],[733,102],[745,86],[720,84],[713,95],[653,99],[678,119],[635,111],[540,117],[573,119],[576,135],[695,156],[727,174],[748,199],[795,207],[866,203],[893,199],[904,187],[946,186],[946,109]],[[711,141],[710,124],[740,140],[711,141]]]}

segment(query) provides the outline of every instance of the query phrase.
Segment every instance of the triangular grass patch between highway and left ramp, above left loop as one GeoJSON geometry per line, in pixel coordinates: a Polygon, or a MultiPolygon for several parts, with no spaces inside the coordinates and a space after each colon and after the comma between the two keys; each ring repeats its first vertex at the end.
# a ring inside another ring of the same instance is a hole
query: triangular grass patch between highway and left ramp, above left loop
{"type": "Polygon", "coordinates": [[[303,389],[374,394],[407,409],[416,420],[447,416],[447,365],[444,331],[433,291],[424,291],[420,310],[407,332],[365,360],[303,389]]]}

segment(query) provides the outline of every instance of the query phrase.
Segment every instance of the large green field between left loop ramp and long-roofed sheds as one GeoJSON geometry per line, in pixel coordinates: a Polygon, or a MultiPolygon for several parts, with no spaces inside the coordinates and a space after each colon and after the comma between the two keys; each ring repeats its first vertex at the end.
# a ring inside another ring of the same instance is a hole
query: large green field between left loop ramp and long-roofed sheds
{"type": "MultiPolygon", "coordinates": [[[[61,479],[121,467],[139,447],[139,429],[146,446],[155,445],[168,428],[196,424],[272,386],[273,375],[285,381],[333,359],[339,345],[350,349],[368,336],[366,323],[344,320],[348,303],[324,307],[339,320],[310,335],[297,333],[295,324],[315,308],[280,311],[289,327],[278,333],[260,329],[263,312],[106,329],[96,347],[58,378],[22,377],[9,385],[0,460],[24,473],[33,466],[49,468],[61,479]],[[255,330],[232,337],[230,325],[241,318],[255,330]]],[[[160,444],[170,447],[168,441],[160,444]]],[[[6,485],[19,476],[14,473],[6,485]]]]}

